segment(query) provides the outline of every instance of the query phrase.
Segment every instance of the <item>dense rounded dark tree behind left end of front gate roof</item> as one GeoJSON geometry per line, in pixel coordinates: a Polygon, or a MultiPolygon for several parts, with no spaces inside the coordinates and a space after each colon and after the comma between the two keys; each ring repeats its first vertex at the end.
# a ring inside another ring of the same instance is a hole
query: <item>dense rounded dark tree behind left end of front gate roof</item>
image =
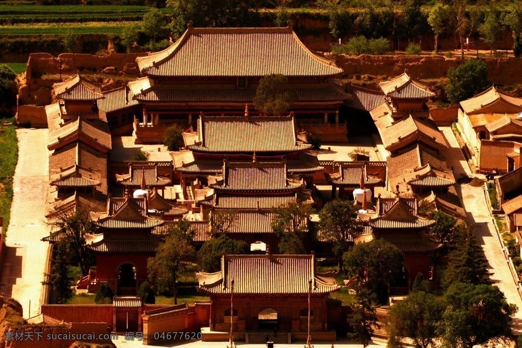
{"type": "Polygon", "coordinates": [[[221,269],[222,254],[246,254],[249,248],[243,240],[232,240],[226,234],[212,238],[201,246],[197,253],[199,268],[205,272],[217,272],[221,269]]]}

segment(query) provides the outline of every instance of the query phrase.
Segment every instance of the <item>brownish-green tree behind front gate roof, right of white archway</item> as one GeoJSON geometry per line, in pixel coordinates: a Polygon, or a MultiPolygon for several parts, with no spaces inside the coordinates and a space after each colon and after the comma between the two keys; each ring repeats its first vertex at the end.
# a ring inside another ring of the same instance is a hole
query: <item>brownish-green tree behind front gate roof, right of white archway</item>
{"type": "Polygon", "coordinates": [[[280,253],[305,253],[303,237],[309,231],[308,221],[312,213],[312,206],[304,202],[289,202],[272,209],[271,226],[274,233],[281,238],[280,253]]]}

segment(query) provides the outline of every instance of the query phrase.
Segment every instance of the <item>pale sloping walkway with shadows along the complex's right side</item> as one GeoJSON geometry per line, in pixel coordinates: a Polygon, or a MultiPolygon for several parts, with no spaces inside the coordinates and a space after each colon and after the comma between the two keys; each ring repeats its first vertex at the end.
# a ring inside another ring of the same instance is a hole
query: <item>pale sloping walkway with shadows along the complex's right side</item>
{"type": "MultiPolygon", "coordinates": [[[[473,177],[450,127],[440,127],[440,129],[449,146],[446,151],[446,160],[448,166],[453,166],[455,177],[457,179],[473,177]]],[[[466,210],[466,223],[474,229],[477,241],[484,249],[485,257],[488,259],[489,271],[493,273],[491,275],[493,284],[501,289],[509,303],[518,306],[514,330],[520,333],[522,332],[522,300],[504,258],[502,243],[485,200],[484,187],[471,183],[456,185],[456,189],[466,210]]]]}

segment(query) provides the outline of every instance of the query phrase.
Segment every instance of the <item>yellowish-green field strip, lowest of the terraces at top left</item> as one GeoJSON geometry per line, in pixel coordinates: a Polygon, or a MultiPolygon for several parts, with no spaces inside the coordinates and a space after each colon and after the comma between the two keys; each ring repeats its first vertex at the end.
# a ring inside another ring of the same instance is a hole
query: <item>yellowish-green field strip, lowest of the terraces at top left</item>
{"type": "MultiPolygon", "coordinates": [[[[140,25],[140,22],[127,23],[140,25]]],[[[120,34],[123,31],[123,22],[37,23],[0,26],[0,34],[4,35],[65,34],[69,30],[74,34],[120,34]]]]}

